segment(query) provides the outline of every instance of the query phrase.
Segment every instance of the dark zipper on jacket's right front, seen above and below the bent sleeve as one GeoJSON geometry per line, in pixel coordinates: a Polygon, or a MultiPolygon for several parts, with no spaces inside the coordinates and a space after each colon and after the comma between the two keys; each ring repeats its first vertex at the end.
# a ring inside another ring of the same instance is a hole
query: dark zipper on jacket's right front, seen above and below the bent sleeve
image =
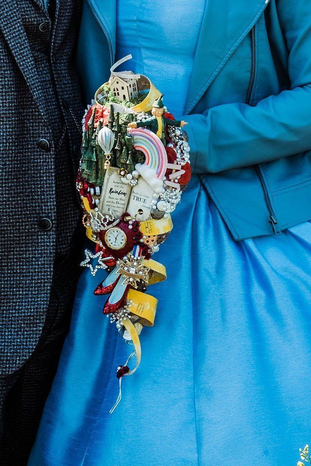
{"type": "MultiPolygon", "coordinates": [[[[255,26],[251,29],[250,35],[251,35],[251,75],[250,75],[249,86],[248,86],[247,94],[246,94],[246,103],[248,105],[250,105],[250,101],[251,101],[251,97],[252,97],[252,91],[253,91],[254,82],[255,82],[255,70],[256,70],[255,26]]],[[[278,225],[277,225],[276,215],[275,215],[275,213],[273,211],[273,208],[272,208],[272,205],[271,205],[267,185],[266,185],[266,183],[264,181],[264,178],[263,178],[262,173],[260,171],[259,165],[256,165],[255,168],[256,168],[256,171],[257,171],[257,174],[258,174],[258,177],[259,177],[259,181],[260,181],[260,184],[261,184],[261,187],[262,187],[264,200],[266,202],[266,206],[267,206],[267,209],[269,211],[268,222],[271,223],[271,226],[273,228],[274,233],[279,234],[279,233],[281,233],[281,231],[279,230],[278,225]]]]}

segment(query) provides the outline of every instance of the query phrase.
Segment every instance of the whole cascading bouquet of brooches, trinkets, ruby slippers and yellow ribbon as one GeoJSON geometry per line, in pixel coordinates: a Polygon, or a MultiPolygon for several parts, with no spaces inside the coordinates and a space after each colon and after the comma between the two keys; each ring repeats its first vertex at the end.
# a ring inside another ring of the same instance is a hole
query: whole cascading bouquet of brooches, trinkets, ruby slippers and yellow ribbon
{"type": "Polygon", "coordinates": [[[104,315],[133,348],[117,370],[116,405],[122,378],[140,363],[139,334],[154,324],[157,300],[146,290],[166,279],[165,267],[153,255],[173,228],[171,213],[191,176],[188,136],[182,130],[187,123],[174,119],[150,80],[120,72],[123,81],[135,79],[135,92],[128,100],[120,101],[110,89],[109,83],[118,77],[116,68],[129,58],[111,68],[111,79],[97,90],[95,103],[86,110],[77,176],[90,240],[81,265],[90,268],[92,276],[107,269],[101,283],[93,278],[94,293],[99,299],[107,297],[104,315]],[[90,264],[91,259],[98,264],[90,264]],[[136,364],[130,369],[132,358],[136,364]]]}

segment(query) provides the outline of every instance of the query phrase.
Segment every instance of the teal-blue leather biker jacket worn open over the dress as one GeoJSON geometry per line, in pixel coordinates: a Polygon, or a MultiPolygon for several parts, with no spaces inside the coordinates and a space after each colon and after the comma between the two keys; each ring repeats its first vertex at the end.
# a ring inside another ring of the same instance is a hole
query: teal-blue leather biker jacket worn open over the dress
{"type": "MultiPolygon", "coordinates": [[[[109,77],[115,32],[116,0],[85,0],[87,100],[109,77]]],[[[310,220],[310,0],[208,0],[181,118],[194,173],[235,239],[310,220]]]]}

